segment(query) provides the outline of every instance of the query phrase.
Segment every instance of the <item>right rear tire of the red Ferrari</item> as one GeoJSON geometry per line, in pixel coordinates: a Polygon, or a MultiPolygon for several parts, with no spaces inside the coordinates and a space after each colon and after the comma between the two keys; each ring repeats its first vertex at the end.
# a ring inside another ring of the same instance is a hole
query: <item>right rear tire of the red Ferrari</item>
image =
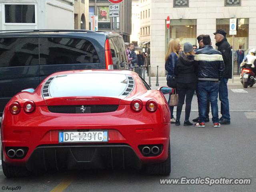
{"type": "Polygon", "coordinates": [[[145,166],[144,172],[148,175],[170,175],[171,173],[171,152],[170,142],[168,146],[168,158],[166,161],[145,166]]]}

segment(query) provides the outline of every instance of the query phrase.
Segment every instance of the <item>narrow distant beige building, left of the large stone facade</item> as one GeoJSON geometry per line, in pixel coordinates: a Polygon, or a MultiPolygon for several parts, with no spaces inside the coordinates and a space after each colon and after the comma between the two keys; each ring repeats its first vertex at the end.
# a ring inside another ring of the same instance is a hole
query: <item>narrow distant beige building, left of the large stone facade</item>
{"type": "Polygon", "coordinates": [[[140,0],[140,43],[143,52],[150,53],[150,4],[151,0],[140,0]]]}

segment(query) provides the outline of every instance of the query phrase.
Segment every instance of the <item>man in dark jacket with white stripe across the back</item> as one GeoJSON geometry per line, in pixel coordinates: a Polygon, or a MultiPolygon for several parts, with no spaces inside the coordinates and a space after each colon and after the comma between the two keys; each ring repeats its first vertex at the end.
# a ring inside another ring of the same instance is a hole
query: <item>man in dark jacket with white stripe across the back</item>
{"type": "Polygon", "coordinates": [[[198,67],[198,94],[199,94],[199,122],[196,127],[204,127],[206,119],[207,100],[209,98],[212,108],[212,121],[214,127],[220,127],[218,117],[219,82],[223,76],[225,66],[220,51],[211,46],[209,35],[203,36],[204,48],[195,55],[195,65],[198,67]]]}

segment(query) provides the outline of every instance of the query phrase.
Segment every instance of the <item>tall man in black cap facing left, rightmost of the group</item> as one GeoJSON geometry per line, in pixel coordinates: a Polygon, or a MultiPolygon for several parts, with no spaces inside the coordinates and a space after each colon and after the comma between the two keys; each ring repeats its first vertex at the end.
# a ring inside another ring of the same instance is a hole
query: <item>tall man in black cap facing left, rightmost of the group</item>
{"type": "Polygon", "coordinates": [[[225,71],[223,78],[220,80],[219,87],[219,98],[220,98],[220,113],[222,117],[220,118],[221,124],[230,124],[230,113],[229,113],[229,102],[228,102],[228,79],[232,78],[232,54],[231,46],[226,39],[226,31],[223,29],[218,29],[215,33],[216,46],[218,46],[218,51],[221,52],[225,71]]]}

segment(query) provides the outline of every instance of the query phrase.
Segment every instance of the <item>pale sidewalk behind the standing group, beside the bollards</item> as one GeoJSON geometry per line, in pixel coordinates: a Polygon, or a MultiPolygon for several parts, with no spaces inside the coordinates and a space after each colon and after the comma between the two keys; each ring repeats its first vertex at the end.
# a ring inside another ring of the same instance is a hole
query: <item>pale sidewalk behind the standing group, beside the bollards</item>
{"type": "MultiPolygon", "coordinates": [[[[145,76],[145,81],[149,84],[149,78],[148,76],[145,76]]],[[[151,89],[158,89],[159,87],[162,86],[167,86],[166,85],[166,77],[158,77],[158,84],[159,86],[156,86],[156,77],[150,77],[150,83],[151,83],[151,89]]],[[[240,76],[236,75],[234,76],[234,83],[232,83],[232,79],[228,80],[228,86],[240,86],[240,76]]]]}

